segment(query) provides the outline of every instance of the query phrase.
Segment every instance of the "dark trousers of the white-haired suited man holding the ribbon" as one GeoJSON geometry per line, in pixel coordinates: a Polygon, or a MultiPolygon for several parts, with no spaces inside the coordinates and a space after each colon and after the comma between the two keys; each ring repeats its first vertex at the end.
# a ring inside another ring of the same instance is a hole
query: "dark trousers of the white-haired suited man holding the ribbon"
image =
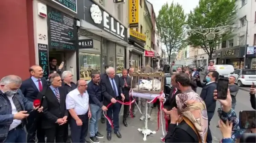
{"type": "MultiPolygon", "coordinates": [[[[113,115],[113,126],[114,126],[114,132],[116,133],[119,131],[119,112],[120,112],[121,104],[116,102],[115,104],[112,104],[110,107],[108,107],[107,115],[109,118],[113,115]]],[[[111,133],[111,125],[107,123],[107,132],[111,133]]]]}

